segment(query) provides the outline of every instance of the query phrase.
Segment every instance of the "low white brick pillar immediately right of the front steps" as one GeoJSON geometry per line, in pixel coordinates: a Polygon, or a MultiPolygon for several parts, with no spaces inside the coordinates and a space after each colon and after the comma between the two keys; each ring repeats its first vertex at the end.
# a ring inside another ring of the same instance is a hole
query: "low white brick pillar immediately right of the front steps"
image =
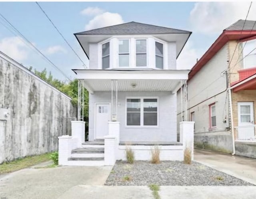
{"type": "Polygon", "coordinates": [[[116,138],[114,136],[104,137],[104,164],[114,165],[116,162],[116,138]]]}

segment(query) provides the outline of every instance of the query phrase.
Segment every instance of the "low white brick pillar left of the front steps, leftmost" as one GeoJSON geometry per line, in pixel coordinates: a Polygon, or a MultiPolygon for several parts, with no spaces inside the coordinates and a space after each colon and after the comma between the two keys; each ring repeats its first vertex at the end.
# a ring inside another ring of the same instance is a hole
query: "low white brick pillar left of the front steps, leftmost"
{"type": "Polygon", "coordinates": [[[68,158],[71,157],[72,150],[72,137],[71,136],[60,136],[59,138],[59,165],[66,166],[68,158]]]}

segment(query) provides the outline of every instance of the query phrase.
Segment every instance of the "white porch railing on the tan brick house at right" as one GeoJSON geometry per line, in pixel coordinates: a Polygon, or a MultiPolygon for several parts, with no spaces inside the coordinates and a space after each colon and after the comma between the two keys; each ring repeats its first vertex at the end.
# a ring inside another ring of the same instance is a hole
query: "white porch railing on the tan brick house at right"
{"type": "Polygon", "coordinates": [[[236,126],[236,141],[237,142],[256,142],[255,135],[256,125],[236,126]]]}

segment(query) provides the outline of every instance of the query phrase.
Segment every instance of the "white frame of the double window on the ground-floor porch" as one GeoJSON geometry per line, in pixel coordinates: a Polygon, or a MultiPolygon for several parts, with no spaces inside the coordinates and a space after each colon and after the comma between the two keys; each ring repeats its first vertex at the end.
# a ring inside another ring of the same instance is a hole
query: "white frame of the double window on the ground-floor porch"
{"type": "Polygon", "coordinates": [[[159,98],[158,97],[126,97],[125,98],[125,128],[158,128],[159,127],[159,98]],[[140,99],[140,126],[127,125],[127,99],[140,99]],[[144,125],[144,99],[157,100],[157,125],[144,125]]]}

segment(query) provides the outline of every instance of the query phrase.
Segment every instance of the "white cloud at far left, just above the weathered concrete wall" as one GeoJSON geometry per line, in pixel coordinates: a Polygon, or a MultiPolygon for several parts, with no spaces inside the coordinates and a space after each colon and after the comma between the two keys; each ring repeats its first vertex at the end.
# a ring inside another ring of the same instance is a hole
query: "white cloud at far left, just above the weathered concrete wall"
{"type": "Polygon", "coordinates": [[[29,48],[20,37],[5,37],[0,40],[0,51],[16,61],[28,58],[29,48]]]}

